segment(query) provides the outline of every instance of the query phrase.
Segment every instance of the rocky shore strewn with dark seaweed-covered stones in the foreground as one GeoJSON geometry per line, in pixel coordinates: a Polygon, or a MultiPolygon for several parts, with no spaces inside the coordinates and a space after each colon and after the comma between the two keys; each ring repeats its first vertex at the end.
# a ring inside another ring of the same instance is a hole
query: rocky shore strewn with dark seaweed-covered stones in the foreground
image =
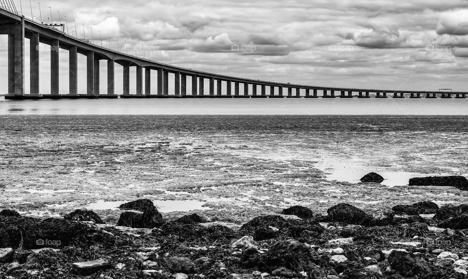
{"type": "Polygon", "coordinates": [[[0,278],[468,278],[468,205],[294,206],[241,227],[165,221],[149,200],[120,209],[117,226],[86,209],[45,220],[1,210],[0,278]]]}

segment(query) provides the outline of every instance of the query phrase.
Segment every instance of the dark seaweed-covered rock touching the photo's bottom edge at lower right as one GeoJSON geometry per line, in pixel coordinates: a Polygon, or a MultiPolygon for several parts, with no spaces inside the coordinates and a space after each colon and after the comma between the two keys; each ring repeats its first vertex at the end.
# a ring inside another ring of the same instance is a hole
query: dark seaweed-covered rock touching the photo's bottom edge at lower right
{"type": "Polygon", "coordinates": [[[408,252],[393,250],[387,260],[391,269],[405,278],[425,278],[429,273],[428,263],[423,258],[408,252]]]}

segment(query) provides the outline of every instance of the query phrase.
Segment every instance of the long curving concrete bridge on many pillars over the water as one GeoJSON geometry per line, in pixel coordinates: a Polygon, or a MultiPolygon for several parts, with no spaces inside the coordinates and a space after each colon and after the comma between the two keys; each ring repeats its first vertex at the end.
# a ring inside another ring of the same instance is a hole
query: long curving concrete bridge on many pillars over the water
{"type": "Polygon", "coordinates": [[[365,88],[318,87],[260,81],[185,69],[129,55],[66,34],[5,7],[0,8],[0,34],[8,35],[8,94],[5,99],[79,98],[467,98],[468,92],[406,91],[365,88]],[[25,94],[25,38],[30,41],[30,94],[25,94]],[[50,94],[39,88],[39,43],[51,46],[50,94]],[[69,52],[69,93],[59,94],[59,50],[69,52]],[[78,53],[86,59],[86,94],[78,94],[78,53]],[[100,94],[99,61],[107,61],[107,94],[100,94]],[[115,88],[115,63],[123,67],[121,94],[115,88]],[[136,88],[130,91],[130,67],[136,67],[136,88]],[[145,71],[143,91],[143,69],[145,71]],[[151,90],[152,71],[157,74],[156,94],[151,90]],[[174,84],[169,84],[169,75],[174,84]],[[208,86],[205,88],[205,81],[208,86]],[[190,83],[190,92],[187,84],[190,83]],[[173,87],[171,87],[173,86],[173,87]],[[174,94],[169,94],[169,88],[174,94]],[[225,88],[225,90],[223,90],[225,88]],[[172,90],[174,89],[174,90],[172,90]]]}

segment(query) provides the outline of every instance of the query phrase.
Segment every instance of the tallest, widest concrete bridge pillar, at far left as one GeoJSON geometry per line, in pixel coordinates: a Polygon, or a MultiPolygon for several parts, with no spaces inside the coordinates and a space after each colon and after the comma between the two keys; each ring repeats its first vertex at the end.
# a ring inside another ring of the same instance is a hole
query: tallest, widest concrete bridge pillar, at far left
{"type": "Polygon", "coordinates": [[[8,95],[24,96],[24,17],[8,33],[8,95]]]}

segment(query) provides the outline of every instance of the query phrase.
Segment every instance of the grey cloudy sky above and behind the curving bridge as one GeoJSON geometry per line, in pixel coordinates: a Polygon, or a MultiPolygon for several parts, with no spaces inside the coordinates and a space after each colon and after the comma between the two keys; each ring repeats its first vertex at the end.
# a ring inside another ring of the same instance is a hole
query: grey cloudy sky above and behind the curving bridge
{"type": "MultiPolygon", "coordinates": [[[[24,15],[31,17],[29,3],[22,2],[24,15]]],[[[32,2],[39,20],[39,5],[32,2]]],[[[93,29],[95,43],[101,44],[101,31],[104,45],[109,34],[114,49],[118,37],[123,52],[135,53],[135,44],[140,56],[196,70],[320,86],[468,90],[466,0],[44,0],[40,5],[45,22],[49,5],[54,21],[58,11],[62,21],[66,16],[70,34],[75,35],[75,19],[78,36],[84,24],[87,38],[93,29]]],[[[67,56],[61,55],[65,80],[67,56]]],[[[41,59],[47,65],[48,53],[41,52],[41,59]]],[[[83,71],[80,66],[84,79],[83,71]]]]}

